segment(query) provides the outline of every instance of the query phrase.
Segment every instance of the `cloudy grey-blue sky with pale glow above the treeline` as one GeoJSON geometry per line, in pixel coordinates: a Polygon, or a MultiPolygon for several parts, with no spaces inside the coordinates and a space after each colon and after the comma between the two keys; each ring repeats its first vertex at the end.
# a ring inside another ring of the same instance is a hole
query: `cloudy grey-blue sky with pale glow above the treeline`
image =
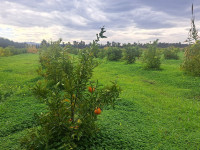
{"type": "Polygon", "coordinates": [[[105,25],[102,43],[184,42],[192,3],[200,28],[200,0],[0,0],[0,37],[88,43],[105,25]]]}

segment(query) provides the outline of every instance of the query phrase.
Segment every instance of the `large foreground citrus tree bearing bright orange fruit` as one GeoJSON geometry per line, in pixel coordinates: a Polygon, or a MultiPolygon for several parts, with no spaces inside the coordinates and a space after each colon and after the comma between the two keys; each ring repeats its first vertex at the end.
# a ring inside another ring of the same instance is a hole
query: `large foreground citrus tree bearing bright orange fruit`
{"type": "Polygon", "coordinates": [[[44,79],[38,81],[33,91],[47,104],[48,112],[38,115],[37,127],[22,138],[21,146],[25,149],[76,147],[81,138],[90,138],[98,131],[97,115],[119,97],[120,88],[115,82],[102,87],[98,81],[90,81],[97,66],[93,47],[71,58],[60,42],[43,46],[40,51],[38,73],[44,79]]]}

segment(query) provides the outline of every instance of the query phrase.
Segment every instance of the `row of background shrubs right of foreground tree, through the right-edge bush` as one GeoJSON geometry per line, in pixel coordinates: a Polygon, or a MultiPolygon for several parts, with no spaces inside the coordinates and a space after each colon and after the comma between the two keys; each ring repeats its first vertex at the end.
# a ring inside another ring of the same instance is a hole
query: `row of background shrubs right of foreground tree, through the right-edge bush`
{"type": "MultiPolygon", "coordinates": [[[[157,41],[149,44],[146,49],[140,49],[138,47],[127,46],[124,49],[117,47],[107,47],[106,49],[99,50],[100,58],[107,57],[110,61],[126,60],[127,63],[134,63],[136,58],[142,56],[142,61],[147,69],[159,69],[160,58],[163,54],[165,59],[179,59],[179,48],[169,47],[159,49],[157,47],[157,41]]],[[[200,41],[196,40],[194,44],[189,45],[184,50],[184,62],[181,64],[181,69],[193,76],[200,76],[200,41]]]]}

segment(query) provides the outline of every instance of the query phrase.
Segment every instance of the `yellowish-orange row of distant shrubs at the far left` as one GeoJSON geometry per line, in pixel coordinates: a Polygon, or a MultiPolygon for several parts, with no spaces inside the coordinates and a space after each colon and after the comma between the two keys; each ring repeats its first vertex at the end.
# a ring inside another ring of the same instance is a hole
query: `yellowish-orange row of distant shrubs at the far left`
{"type": "Polygon", "coordinates": [[[37,52],[38,49],[35,46],[28,46],[27,48],[15,48],[14,46],[8,46],[6,48],[0,47],[0,57],[37,52]]]}

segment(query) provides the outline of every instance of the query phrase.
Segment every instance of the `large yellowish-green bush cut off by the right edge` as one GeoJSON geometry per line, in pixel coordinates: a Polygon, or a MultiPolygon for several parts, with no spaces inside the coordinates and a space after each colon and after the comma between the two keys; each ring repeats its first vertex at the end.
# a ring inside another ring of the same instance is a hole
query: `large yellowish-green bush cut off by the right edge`
{"type": "Polygon", "coordinates": [[[185,49],[185,58],[181,68],[194,76],[200,76],[200,41],[185,49]]]}

